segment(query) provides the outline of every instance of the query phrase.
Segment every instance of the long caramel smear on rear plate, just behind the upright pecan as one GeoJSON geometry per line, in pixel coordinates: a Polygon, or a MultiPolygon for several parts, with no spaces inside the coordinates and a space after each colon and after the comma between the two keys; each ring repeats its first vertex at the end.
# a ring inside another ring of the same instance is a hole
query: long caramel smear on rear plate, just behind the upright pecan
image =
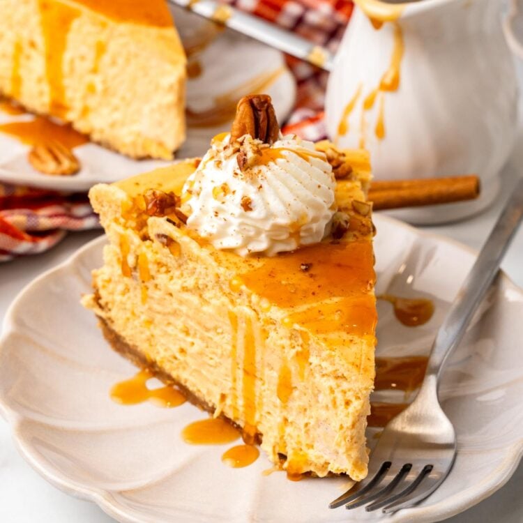
{"type": "Polygon", "coordinates": [[[207,128],[223,126],[234,120],[236,115],[236,105],[238,99],[248,94],[257,94],[267,91],[281,75],[285,68],[280,67],[270,73],[263,73],[255,78],[249,79],[241,85],[238,85],[232,91],[223,93],[215,97],[213,106],[204,111],[195,111],[189,107],[185,110],[187,123],[192,128],[207,128]]]}

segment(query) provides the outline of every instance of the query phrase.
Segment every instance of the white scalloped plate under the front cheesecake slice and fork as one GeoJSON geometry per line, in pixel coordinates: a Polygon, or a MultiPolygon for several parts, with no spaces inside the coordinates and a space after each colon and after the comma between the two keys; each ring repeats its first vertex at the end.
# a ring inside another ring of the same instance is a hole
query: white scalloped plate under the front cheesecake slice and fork
{"type": "MultiPolygon", "coordinates": [[[[380,356],[426,354],[475,255],[446,238],[377,215],[378,292],[430,296],[436,312],[416,328],[379,303],[380,356]]],[[[0,342],[0,407],[33,467],[57,487],[95,501],[123,522],[353,522],[380,514],[329,510],[343,478],[298,483],[220,460],[223,446],[189,446],[181,429],[204,414],[190,404],[123,407],[111,386],[134,367],[107,347],[79,305],[101,264],[105,238],[31,283],[11,306],[0,342]]],[[[437,492],[389,522],[434,522],[478,503],[506,483],[523,450],[523,291],[501,275],[441,383],[458,438],[455,467],[437,492]]],[[[383,518],[385,519],[385,518],[383,518]]]]}

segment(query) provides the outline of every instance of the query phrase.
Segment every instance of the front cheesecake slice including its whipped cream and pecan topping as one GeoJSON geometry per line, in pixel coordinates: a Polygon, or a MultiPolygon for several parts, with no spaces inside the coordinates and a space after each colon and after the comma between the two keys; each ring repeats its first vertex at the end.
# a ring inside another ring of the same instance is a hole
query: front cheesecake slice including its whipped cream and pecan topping
{"type": "Polygon", "coordinates": [[[114,349],[289,473],[361,480],[377,321],[368,156],[278,135],[256,109],[267,98],[242,100],[202,161],[91,189],[109,244],[84,305],[114,349]]]}

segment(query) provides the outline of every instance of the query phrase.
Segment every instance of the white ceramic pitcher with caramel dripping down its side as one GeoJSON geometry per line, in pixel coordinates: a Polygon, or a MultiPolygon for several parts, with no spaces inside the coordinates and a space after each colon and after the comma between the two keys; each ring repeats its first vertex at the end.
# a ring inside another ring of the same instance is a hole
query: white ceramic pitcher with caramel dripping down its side
{"type": "Polygon", "coordinates": [[[438,223],[497,196],[513,147],[517,82],[503,0],[357,4],[328,82],[328,133],[370,150],[376,179],[477,173],[475,202],[394,211],[438,223]]]}

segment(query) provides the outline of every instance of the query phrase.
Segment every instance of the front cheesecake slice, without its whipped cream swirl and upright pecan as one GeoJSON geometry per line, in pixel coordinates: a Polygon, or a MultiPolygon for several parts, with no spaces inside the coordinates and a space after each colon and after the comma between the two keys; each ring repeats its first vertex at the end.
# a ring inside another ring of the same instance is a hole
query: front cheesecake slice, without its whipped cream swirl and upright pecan
{"type": "Polygon", "coordinates": [[[289,473],[361,480],[377,321],[370,166],[365,151],[328,142],[300,151],[342,176],[338,212],[323,240],[275,256],[215,248],[190,227],[179,195],[195,190],[199,160],[93,187],[109,244],[84,305],[114,349],[232,420],[289,473]]]}

